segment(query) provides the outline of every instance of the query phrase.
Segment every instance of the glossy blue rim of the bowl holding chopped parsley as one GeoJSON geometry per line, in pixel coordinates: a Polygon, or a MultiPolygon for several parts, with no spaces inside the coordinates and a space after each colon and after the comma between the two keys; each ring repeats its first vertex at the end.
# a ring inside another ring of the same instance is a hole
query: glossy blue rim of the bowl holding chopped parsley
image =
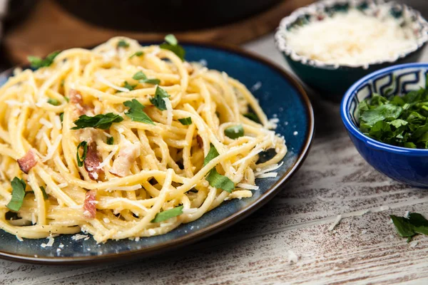
{"type": "Polygon", "coordinates": [[[397,147],[395,145],[387,145],[384,142],[379,142],[377,140],[374,140],[372,138],[367,137],[367,135],[364,135],[360,129],[355,125],[355,123],[352,120],[350,108],[352,104],[352,100],[357,95],[360,88],[367,82],[371,82],[375,78],[379,78],[380,76],[394,73],[394,71],[399,71],[406,68],[424,68],[424,70],[428,69],[428,63],[406,63],[406,64],[399,64],[397,66],[390,66],[388,68],[383,68],[379,71],[375,71],[373,73],[370,73],[369,75],[361,78],[359,81],[357,81],[354,85],[352,85],[347,92],[345,93],[345,96],[342,99],[342,103],[340,105],[340,115],[342,117],[343,124],[345,125],[345,128],[350,132],[350,134],[355,135],[358,139],[364,141],[367,145],[370,145],[372,149],[374,150],[384,150],[387,152],[394,152],[396,154],[405,154],[405,155],[428,155],[428,150],[423,149],[414,149],[414,148],[407,148],[407,147],[397,147]]]}

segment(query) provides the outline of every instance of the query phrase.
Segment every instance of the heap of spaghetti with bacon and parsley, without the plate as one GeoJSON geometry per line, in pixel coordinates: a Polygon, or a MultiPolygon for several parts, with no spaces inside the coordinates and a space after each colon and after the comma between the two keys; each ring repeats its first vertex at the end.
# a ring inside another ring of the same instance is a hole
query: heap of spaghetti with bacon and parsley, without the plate
{"type": "Polygon", "coordinates": [[[275,177],[287,152],[275,120],[242,83],[165,40],[32,58],[38,69],[0,88],[1,229],[96,242],[165,234],[275,177]]]}

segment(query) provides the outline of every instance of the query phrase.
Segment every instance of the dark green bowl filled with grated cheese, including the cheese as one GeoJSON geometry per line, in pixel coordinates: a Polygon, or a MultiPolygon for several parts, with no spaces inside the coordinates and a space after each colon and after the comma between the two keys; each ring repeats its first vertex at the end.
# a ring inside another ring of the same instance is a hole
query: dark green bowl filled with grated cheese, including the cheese
{"type": "Polygon", "coordinates": [[[417,62],[428,22],[404,4],[382,0],[323,0],[282,19],[277,48],[300,79],[323,98],[340,101],[373,71],[417,62]]]}

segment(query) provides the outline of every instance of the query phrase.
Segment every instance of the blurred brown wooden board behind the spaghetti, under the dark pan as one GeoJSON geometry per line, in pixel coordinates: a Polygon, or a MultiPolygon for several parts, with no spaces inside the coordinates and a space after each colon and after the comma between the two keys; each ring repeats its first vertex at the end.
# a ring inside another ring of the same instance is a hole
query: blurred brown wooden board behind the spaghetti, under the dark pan
{"type": "MultiPolygon", "coordinates": [[[[217,41],[240,44],[273,31],[280,19],[300,6],[315,0],[284,0],[261,14],[226,26],[199,31],[175,33],[181,40],[217,41]]],[[[164,33],[116,31],[93,26],[68,14],[52,0],[43,0],[28,19],[4,38],[6,54],[15,63],[26,61],[26,56],[45,56],[51,51],[78,46],[93,46],[113,36],[128,36],[139,40],[160,40],[164,33]]]]}

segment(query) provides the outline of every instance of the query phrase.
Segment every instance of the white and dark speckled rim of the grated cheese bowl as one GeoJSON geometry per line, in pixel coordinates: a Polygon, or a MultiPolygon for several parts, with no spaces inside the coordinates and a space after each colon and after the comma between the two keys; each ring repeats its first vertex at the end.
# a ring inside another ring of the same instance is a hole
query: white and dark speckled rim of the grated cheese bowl
{"type": "Polygon", "coordinates": [[[425,44],[428,42],[428,21],[420,14],[419,11],[412,9],[412,7],[405,4],[398,4],[394,1],[385,2],[384,0],[321,0],[316,1],[314,4],[304,6],[300,9],[296,9],[290,16],[286,16],[280,21],[280,26],[277,27],[275,32],[275,44],[277,49],[282,53],[285,53],[287,56],[290,56],[293,61],[300,62],[308,66],[316,66],[318,68],[328,68],[328,69],[338,69],[340,67],[345,68],[369,68],[372,65],[382,64],[382,63],[394,63],[400,58],[409,56],[409,54],[419,51],[425,44]],[[419,24],[419,33],[417,38],[417,46],[414,46],[412,49],[403,51],[402,53],[397,53],[394,58],[389,58],[382,61],[373,61],[371,63],[358,64],[358,65],[347,65],[347,64],[330,64],[324,63],[322,61],[312,60],[305,56],[301,56],[296,53],[288,44],[284,35],[287,33],[287,28],[295,24],[297,21],[307,20],[307,16],[317,16],[320,12],[325,12],[326,9],[332,8],[335,5],[349,4],[350,7],[355,8],[359,5],[367,3],[367,9],[376,10],[379,6],[386,6],[389,9],[398,9],[402,11],[403,15],[406,16],[406,19],[414,19],[414,22],[419,24]]]}

